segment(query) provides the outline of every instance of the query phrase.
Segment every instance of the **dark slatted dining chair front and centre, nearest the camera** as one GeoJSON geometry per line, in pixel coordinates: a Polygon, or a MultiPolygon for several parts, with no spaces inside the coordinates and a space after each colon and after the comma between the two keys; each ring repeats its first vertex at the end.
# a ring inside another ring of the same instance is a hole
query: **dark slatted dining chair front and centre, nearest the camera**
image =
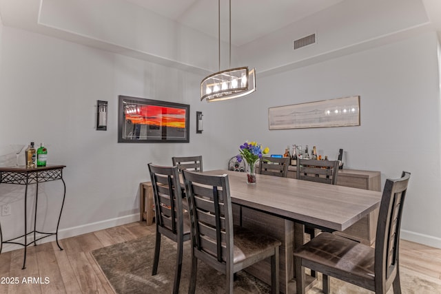
{"type": "MultiPolygon", "coordinates": [[[[192,235],[189,293],[196,290],[198,260],[226,275],[225,292],[233,293],[234,273],[271,257],[271,291],[279,293],[280,241],[233,226],[228,176],[183,170],[192,235]]],[[[245,184],[246,185],[246,184],[245,184]]]]}

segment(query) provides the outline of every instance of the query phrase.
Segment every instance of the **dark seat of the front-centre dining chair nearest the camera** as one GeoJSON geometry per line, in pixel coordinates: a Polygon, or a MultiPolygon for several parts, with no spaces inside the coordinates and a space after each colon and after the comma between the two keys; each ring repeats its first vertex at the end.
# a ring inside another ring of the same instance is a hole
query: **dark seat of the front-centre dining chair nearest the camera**
{"type": "MultiPolygon", "coordinates": [[[[267,234],[259,233],[234,226],[234,264],[263,255],[263,253],[274,252],[275,246],[280,246],[280,241],[267,234]]],[[[268,256],[270,256],[269,254],[268,256]]]]}

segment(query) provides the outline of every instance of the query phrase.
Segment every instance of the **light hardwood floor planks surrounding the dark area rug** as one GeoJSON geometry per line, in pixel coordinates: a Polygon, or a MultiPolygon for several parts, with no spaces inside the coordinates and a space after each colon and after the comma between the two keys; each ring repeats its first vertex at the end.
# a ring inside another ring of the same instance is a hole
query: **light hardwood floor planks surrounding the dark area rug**
{"type": "MultiPolygon", "coordinates": [[[[90,251],[139,238],[154,230],[154,225],[133,222],[63,239],[60,241],[63,251],[55,242],[30,246],[24,270],[21,269],[23,249],[1,253],[0,278],[18,277],[19,284],[0,284],[0,293],[114,293],[90,251]],[[40,278],[43,283],[23,282],[28,277],[40,278]],[[47,284],[45,277],[49,279],[47,284]]],[[[441,249],[401,240],[400,266],[441,280],[441,249]]]]}

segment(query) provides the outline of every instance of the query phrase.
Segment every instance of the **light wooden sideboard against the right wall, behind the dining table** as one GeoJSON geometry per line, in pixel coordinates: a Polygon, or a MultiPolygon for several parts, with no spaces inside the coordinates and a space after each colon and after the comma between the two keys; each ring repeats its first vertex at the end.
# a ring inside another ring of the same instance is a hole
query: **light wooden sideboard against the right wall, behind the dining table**
{"type": "MultiPolygon", "coordinates": [[[[296,178],[296,167],[289,166],[288,178],[296,178]]],[[[362,171],[358,169],[339,169],[337,185],[381,191],[380,171],[362,171]]],[[[346,238],[350,238],[363,244],[371,245],[375,242],[378,220],[378,209],[369,213],[345,231],[335,232],[346,238]]]]}

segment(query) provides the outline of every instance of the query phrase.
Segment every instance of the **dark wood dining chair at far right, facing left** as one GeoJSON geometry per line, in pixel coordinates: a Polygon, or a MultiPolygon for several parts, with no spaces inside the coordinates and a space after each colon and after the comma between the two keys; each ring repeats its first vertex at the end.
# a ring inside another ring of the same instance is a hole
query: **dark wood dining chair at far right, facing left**
{"type": "Polygon", "coordinates": [[[305,267],[323,274],[323,292],[329,293],[329,275],[386,293],[401,293],[399,249],[402,207],[410,174],[386,180],[380,202],[375,249],[331,233],[321,233],[294,251],[297,293],[305,293],[305,267]]]}

